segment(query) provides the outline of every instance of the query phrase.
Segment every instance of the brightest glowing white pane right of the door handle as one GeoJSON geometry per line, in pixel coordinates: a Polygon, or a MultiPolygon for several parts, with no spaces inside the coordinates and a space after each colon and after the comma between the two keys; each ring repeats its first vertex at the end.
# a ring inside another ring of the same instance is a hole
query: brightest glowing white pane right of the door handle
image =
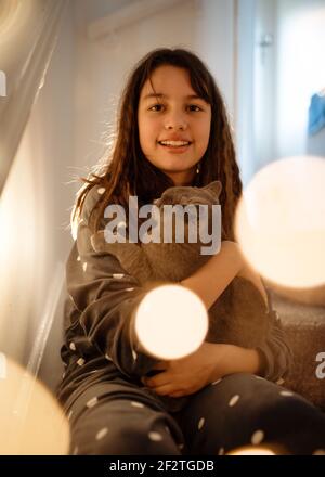
{"type": "Polygon", "coordinates": [[[325,1],[277,0],[276,155],[307,152],[311,95],[325,87],[325,1]]]}

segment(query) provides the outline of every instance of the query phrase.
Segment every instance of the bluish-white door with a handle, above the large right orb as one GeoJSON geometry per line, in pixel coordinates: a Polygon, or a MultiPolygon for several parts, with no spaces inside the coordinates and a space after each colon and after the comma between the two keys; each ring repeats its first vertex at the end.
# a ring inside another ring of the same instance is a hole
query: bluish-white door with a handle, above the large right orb
{"type": "Polygon", "coordinates": [[[311,95],[325,88],[325,0],[237,0],[236,133],[244,184],[270,162],[325,155],[308,138],[311,95]],[[259,46],[264,34],[273,44],[259,46]]]}

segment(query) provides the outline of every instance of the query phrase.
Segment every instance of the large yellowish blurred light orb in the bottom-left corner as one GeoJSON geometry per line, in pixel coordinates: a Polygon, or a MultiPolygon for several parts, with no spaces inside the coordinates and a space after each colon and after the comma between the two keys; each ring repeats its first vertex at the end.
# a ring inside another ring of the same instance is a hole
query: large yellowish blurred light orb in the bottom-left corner
{"type": "Polygon", "coordinates": [[[69,426],[51,392],[0,353],[0,454],[64,455],[69,426]]]}

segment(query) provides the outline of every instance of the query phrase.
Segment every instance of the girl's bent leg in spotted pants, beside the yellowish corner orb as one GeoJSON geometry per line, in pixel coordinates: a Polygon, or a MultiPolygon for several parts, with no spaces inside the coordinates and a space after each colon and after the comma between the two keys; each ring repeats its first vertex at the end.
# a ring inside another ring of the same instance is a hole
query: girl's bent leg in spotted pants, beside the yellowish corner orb
{"type": "Polygon", "coordinates": [[[183,452],[184,438],[177,422],[127,382],[88,388],[66,409],[66,414],[72,433],[70,454],[181,455],[183,452]]]}

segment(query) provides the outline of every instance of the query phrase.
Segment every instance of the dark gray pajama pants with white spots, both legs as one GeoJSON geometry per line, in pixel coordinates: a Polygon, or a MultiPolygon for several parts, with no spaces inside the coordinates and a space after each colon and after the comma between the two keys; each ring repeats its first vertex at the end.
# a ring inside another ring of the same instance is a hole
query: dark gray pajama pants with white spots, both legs
{"type": "Polygon", "coordinates": [[[66,408],[70,454],[221,455],[247,446],[325,454],[325,414],[259,376],[227,375],[190,398],[168,413],[128,381],[94,384],[66,408]]]}

